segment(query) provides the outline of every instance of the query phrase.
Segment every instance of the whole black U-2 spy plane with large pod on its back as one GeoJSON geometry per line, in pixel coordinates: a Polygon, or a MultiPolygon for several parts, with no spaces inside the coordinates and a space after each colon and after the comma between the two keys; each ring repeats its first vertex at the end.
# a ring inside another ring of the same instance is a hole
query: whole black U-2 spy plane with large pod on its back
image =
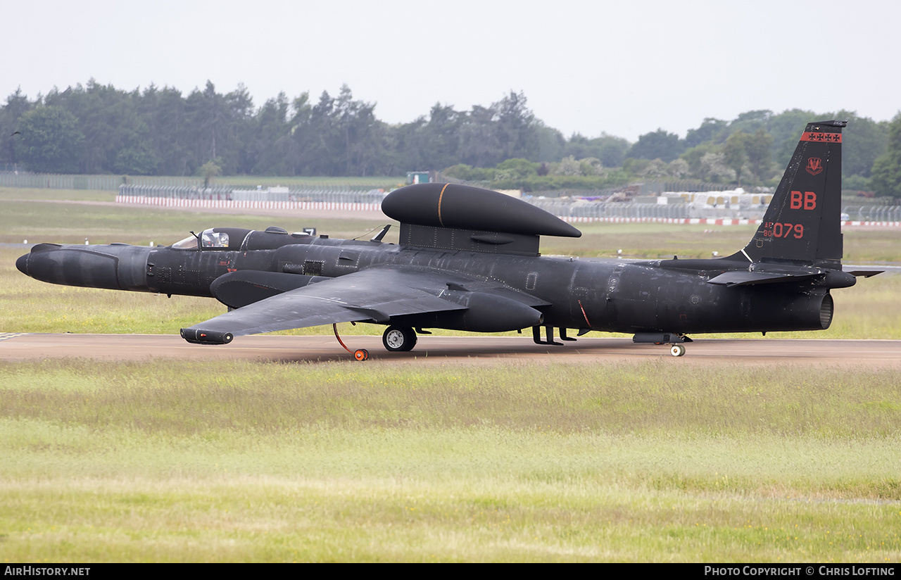
{"type": "Polygon", "coordinates": [[[688,334],[824,330],[833,319],[829,291],[878,273],[842,271],[845,124],[806,126],[753,239],[725,258],[542,257],[540,236],[581,232],[507,195],[420,184],[383,201],[400,222],[396,245],[382,241],[388,226],[369,241],[212,228],[169,247],[44,243],[16,267],[53,284],[212,296],[229,312],[181,329],[198,344],[371,322],[387,326],[392,351],[413,349],[423,329],[531,327],[538,344],[561,344],[555,328],[561,340],[576,340],[568,329],[628,332],[680,357],[688,334]]]}

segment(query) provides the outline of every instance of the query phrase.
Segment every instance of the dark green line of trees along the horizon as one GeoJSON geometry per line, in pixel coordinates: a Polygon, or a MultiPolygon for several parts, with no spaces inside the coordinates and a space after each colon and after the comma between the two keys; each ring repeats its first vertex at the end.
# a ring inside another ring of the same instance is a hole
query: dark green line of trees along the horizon
{"type": "Polygon", "coordinates": [[[848,120],[843,171],[850,189],[901,196],[901,114],[750,111],[707,118],[684,139],[659,129],[634,143],[602,134],[569,138],[535,118],[523,93],[458,111],[435,104],[411,122],[380,121],[350,87],[318,99],[282,93],[261,106],[245,86],[220,93],[207,81],[183,95],[150,85],[21,89],[0,108],[0,164],[48,173],[191,176],[444,175],[527,189],[611,186],[636,178],[774,185],[805,123],[848,120]]]}

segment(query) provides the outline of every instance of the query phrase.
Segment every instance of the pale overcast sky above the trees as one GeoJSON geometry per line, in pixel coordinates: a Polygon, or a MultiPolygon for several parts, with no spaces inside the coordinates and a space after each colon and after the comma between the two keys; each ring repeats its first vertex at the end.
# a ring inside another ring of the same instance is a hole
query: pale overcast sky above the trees
{"type": "Polygon", "coordinates": [[[184,95],[243,83],[257,106],[347,84],[396,123],[513,90],[567,136],[629,140],[754,109],[901,109],[896,0],[9,0],[0,14],[3,102],[91,77],[184,95]]]}

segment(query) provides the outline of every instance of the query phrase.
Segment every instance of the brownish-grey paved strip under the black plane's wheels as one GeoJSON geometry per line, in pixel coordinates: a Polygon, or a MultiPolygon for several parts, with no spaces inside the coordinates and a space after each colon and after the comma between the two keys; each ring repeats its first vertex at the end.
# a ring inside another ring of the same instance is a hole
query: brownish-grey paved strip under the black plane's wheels
{"type": "MultiPolygon", "coordinates": [[[[671,364],[824,365],[901,369],[901,340],[696,339],[681,358],[665,345],[628,338],[582,337],[564,346],[537,345],[530,336],[421,336],[410,352],[388,352],[378,336],[342,337],[350,349],[368,349],[369,362],[388,364],[502,365],[519,361],[591,364],[653,359],[671,364]]],[[[0,333],[0,360],[244,359],[263,362],[354,362],[333,336],[236,337],[231,344],[188,344],[177,335],[0,333]]],[[[354,364],[367,364],[359,362],[354,364]]]]}

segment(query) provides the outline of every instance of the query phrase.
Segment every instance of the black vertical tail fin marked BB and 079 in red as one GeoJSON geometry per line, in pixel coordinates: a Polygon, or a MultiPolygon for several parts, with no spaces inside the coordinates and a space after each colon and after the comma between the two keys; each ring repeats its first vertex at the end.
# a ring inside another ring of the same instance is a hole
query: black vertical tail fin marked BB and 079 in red
{"type": "Polygon", "coordinates": [[[808,123],[754,238],[735,258],[842,262],[842,127],[808,123]]]}

